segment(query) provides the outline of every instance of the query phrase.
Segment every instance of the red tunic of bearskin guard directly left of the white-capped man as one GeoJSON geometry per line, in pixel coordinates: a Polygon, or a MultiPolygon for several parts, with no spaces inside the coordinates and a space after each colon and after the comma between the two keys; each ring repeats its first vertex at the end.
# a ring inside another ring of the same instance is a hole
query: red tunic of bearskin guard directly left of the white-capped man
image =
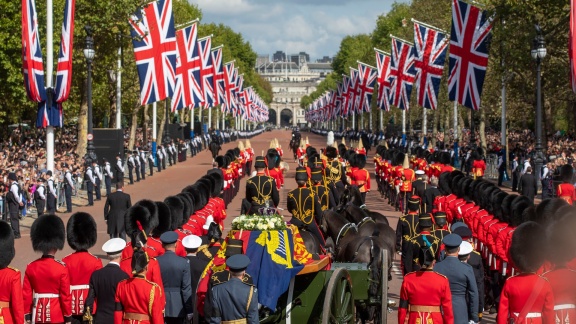
{"type": "MultiPolygon", "coordinates": [[[[102,269],[102,261],[87,251],[69,254],[62,261],[70,275],[70,291],[72,294],[72,315],[84,314],[84,302],[88,298],[90,277],[98,269],[102,269]]],[[[95,309],[91,310],[96,313],[95,309]]]]}

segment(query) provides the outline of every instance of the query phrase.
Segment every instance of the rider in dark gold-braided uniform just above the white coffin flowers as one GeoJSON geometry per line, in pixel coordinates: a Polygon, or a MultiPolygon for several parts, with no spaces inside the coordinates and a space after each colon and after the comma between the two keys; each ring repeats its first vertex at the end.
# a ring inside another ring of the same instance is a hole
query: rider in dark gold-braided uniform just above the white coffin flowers
{"type": "Polygon", "coordinates": [[[274,178],[265,174],[266,162],[263,156],[257,156],[254,163],[256,175],[246,181],[246,199],[242,201],[243,214],[257,214],[258,209],[276,207],[280,195],[274,178]]]}

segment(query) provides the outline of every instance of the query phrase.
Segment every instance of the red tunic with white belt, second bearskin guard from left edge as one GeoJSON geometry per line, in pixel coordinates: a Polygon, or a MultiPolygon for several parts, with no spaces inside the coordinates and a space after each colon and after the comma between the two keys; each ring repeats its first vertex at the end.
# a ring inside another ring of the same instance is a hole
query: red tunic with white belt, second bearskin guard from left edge
{"type": "Polygon", "coordinates": [[[72,316],[70,276],[64,262],[43,255],[24,273],[24,314],[36,323],[64,323],[72,316]],[[34,313],[33,313],[34,312],[34,313]]]}

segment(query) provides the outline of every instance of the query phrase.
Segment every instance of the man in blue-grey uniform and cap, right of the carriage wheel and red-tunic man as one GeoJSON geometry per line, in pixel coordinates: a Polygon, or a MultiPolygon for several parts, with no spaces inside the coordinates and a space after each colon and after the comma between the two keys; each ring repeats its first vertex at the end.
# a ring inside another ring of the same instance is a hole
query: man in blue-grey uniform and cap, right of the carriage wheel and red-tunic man
{"type": "Polygon", "coordinates": [[[469,264],[458,260],[462,238],[458,234],[450,234],[444,237],[442,243],[446,247],[446,258],[436,264],[434,271],[445,275],[450,283],[454,323],[478,323],[478,287],[474,272],[469,264]]]}

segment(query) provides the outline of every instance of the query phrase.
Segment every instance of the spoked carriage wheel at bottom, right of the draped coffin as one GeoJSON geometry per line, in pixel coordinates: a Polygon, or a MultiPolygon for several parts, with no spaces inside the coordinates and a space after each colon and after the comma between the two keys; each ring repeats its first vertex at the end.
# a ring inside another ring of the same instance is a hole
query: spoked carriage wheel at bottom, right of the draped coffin
{"type": "Polygon", "coordinates": [[[346,269],[336,269],[326,287],[322,324],[352,324],[356,321],[355,309],[352,279],[346,269]]]}

